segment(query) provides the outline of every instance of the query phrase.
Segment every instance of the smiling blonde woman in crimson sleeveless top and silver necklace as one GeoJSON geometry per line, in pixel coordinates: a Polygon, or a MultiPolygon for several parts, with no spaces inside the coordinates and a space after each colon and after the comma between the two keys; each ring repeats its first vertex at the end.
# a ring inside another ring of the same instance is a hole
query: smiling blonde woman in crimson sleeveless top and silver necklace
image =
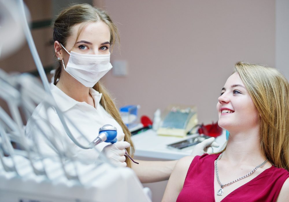
{"type": "Polygon", "coordinates": [[[184,157],[162,201],[288,201],[289,83],[276,69],[238,62],[218,98],[230,132],[218,154],[184,157]]]}

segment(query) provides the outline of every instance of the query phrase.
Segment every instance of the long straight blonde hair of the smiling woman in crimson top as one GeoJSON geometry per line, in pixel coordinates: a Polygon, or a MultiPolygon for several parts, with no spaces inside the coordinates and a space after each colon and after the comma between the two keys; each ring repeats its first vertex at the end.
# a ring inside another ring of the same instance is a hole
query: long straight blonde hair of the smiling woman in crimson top
{"type": "Polygon", "coordinates": [[[260,113],[260,143],[263,155],[289,171],[289,83],[277,69],[237,62],[240,75],[260,113]]]}

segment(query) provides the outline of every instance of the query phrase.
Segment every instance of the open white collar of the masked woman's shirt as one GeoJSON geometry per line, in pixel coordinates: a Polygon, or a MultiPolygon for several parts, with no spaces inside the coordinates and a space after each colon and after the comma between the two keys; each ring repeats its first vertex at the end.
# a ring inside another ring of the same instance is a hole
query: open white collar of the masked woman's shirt
{"type": "MultiPolygon", "coordinates": [[[[79,103],[84,103],[85,102],[78,102],[77,100],[74,100],[73,98],[69,97],[66,95],[62,90],[60,90],[57,86],[55,86],[53,83],[50,85],[50,90],[53,95],[53,98],[55,99],[57,106],[61,111],[67,111],[68,109],[71,109],[73,106],[79,103]]],[[[89,93],[91,94],[92,98],[94,99],[95,102],[95,108],[99,105],[102,93],[99,93],[93,88],[89,89],[89,93]]]]}

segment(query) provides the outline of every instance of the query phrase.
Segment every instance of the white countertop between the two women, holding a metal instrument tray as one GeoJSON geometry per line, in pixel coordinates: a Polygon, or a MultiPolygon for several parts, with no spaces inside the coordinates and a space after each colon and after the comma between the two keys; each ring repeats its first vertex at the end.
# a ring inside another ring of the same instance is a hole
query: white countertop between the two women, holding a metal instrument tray
{"type": "MultiPolygon", "coordinates": [[[[179,142],[191,137],[197,136],[198,134],[192,134],[186,136],[185,138],[173,137],[173,136],[160,136],[157,135],[154,130],[147,130],[145,132],[133,135],[131,137],[134,146],[135,153],[134,156],[137,157],[147,157],[147,158],[159,158],[165,160],[176,160],[184,156],[190,155],[192,149],[195,145],[186,147],[184,149],[174,149],[168,148],[167,145],[179,142]]],[[[213,147],[214,152],[221,150],[223,144],[226,142],[225,130],[223,134],[218,136],[215,140],[220,147],[213,147]]]]}

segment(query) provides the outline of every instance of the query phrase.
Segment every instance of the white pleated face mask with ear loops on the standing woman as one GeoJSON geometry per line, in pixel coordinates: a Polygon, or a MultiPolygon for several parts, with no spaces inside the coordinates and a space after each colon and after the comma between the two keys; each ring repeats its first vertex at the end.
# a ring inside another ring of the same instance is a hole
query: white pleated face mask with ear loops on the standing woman
{"type": "MultiPolygon", "coordinates": [[[[65,48],[64,50],[68,53],[65,48]]],[[[64,70],[86,87],[93,87],[112,68],[110,54],[88,55],[73,51],[68,54],[70,56],[66,67],[62,60],[64,70]]]]}

